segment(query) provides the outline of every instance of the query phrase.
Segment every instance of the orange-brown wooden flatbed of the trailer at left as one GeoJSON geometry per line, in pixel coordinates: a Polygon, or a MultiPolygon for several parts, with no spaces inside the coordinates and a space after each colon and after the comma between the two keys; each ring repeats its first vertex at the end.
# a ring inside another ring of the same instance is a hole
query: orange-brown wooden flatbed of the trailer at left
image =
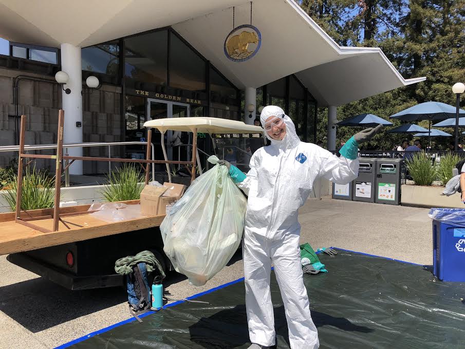
{"type": "MultiPolygon", "coordinates": [[[[139,200],[124,202],[134,205],[138,204],[139,200]]],[[[66,207],[62,208],[60,212],[62,214],[85,212],[89,207],[90,205],[66,207]]],[[[53,209],[28,211],[33,217],[50,215],[52,212],[53,209]]],[[[14,212],[0,214],[0,255],[30,251],[133,230],[159,227],[164,218],[164,215],[142,216],[141,218],[128,219],[127,221],[107,223],[85,213],[62,218],[70,229],[60,222],[58,231],[43,233],[15,223],[14,216],[14,212]],[[82,226],[82,228],[73,224],[82,226]]],[[[28,217],[25,212],[21,213],[21,218],[28,217]]],[[[44,228],[51,228],[53,219],[40,219],[34,221],[34,224],[44,228]]]]}

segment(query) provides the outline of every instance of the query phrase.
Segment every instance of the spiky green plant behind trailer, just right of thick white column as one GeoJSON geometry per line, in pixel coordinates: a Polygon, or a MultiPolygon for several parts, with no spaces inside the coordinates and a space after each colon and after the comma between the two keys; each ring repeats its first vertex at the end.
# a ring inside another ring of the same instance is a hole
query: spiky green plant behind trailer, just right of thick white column
{"type": "Polygon", "coordinates": [[[106,176],[108,185],[100,193],[108,202],[138,200],[142,191],[143,176],[134,166],[124,165],[106,176]]]}

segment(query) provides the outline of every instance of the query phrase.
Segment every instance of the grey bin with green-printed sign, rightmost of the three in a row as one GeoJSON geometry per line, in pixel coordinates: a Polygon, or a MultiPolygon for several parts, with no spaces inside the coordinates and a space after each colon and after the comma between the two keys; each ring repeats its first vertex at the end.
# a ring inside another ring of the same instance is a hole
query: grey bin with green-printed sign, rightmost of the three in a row
{"type": "Polygon", "coordinates": [[[377,159],[375,203],[400,204],[400,175],[403,159],[377,159]]]}

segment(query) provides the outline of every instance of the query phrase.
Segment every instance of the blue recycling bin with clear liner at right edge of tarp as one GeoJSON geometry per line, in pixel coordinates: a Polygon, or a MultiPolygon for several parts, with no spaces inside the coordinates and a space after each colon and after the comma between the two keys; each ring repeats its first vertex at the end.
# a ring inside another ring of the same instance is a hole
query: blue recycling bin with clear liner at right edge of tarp
{"type": "Polygon", "coordinates": [[[433,273],[442,281],[465,282],[465,209],[431,209],[433,273]]]}

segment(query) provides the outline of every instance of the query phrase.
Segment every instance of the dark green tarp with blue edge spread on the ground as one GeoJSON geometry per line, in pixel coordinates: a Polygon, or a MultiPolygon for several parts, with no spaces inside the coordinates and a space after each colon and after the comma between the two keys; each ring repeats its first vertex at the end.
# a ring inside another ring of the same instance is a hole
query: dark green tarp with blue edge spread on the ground
{"type": "MultiPolygon", "coordinates": [[[[304,275],[321,348],[465,347],[465,284],[440,282],[419,265],[338,252],[319,255],[328,273],[304,275]]],[[[277,348],[289,348],[274,275],[271,290],[277,348]]],[[[210,304],[180,303],[72,347],[247,348],[244,297],[239,281],[196,298],[210,304]]]]}

